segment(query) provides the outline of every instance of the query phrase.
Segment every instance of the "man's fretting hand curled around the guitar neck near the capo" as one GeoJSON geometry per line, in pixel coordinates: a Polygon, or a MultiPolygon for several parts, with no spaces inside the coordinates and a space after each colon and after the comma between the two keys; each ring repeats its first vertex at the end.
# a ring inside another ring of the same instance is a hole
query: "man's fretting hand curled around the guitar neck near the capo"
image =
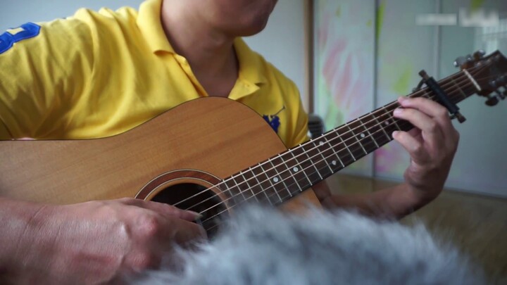
{"type": "Polygon", "coordinates": [[[415,126],[410,132],[394,132],[393,137],[411,156],[404,173],[408,190],[423,203],[436,198],[449,175],[458,148],[459,134],[449,119],[447,109],[425,98],[398,99],[402,108],[394,117],[415,126]]]}

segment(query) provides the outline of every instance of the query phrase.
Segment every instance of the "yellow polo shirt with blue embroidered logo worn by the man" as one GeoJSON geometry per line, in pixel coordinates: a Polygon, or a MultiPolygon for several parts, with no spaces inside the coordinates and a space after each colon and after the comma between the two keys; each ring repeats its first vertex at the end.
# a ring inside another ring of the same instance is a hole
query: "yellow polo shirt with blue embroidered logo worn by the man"
{"type": "MultiPolygon", "coordinates": [[[[160,21],[162,0],[27,23],[0,35],[0,139],[87,139],[132,129],[208,96],[160,21]]],[[[295,84],[242,39],[229,98],[263,116],[288,147],[307,139],[295,84]]]]}

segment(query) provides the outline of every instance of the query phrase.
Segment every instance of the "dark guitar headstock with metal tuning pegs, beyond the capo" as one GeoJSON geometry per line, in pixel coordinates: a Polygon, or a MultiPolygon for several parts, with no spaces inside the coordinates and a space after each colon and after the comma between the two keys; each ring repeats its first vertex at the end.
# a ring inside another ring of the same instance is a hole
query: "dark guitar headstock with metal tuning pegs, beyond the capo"
{"type": "Polygon", "coordinates": [[[476,51],[472,56],[456,58],[456,67],[466,70],[477,82],[477,94],[487,97],[486,104],[494,106],[507,96],[507,58],[500,51],[484,56],[476,51]]]}

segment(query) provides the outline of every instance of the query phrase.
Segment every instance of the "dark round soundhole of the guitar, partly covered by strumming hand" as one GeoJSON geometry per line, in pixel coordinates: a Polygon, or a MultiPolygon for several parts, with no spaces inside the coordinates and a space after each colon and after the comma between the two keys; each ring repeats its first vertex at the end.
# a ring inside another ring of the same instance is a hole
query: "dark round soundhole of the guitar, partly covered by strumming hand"
{"type": "Polygon", "coordinates": [[[217,232],[220,219],[227,215],[227,209],[213,191],[206,189],[199,184],[175,184],[166,187],[151,200],[201,213],[203,217],[196,222],[201,224],[206,229],[208,237],[211,237],[217,232]]]}

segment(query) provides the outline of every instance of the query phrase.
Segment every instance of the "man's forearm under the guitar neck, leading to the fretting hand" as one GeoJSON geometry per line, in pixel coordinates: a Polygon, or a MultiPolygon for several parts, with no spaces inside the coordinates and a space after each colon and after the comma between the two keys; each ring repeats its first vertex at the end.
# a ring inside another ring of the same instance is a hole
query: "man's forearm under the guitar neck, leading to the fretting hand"
{"type": "Polygon", "coordinates": [[[408,184],[368,194],[334,194],[321,201],[326,208],[351,208],[373,217],[401,219],[432,201],[410,189],[408,184]]]}

